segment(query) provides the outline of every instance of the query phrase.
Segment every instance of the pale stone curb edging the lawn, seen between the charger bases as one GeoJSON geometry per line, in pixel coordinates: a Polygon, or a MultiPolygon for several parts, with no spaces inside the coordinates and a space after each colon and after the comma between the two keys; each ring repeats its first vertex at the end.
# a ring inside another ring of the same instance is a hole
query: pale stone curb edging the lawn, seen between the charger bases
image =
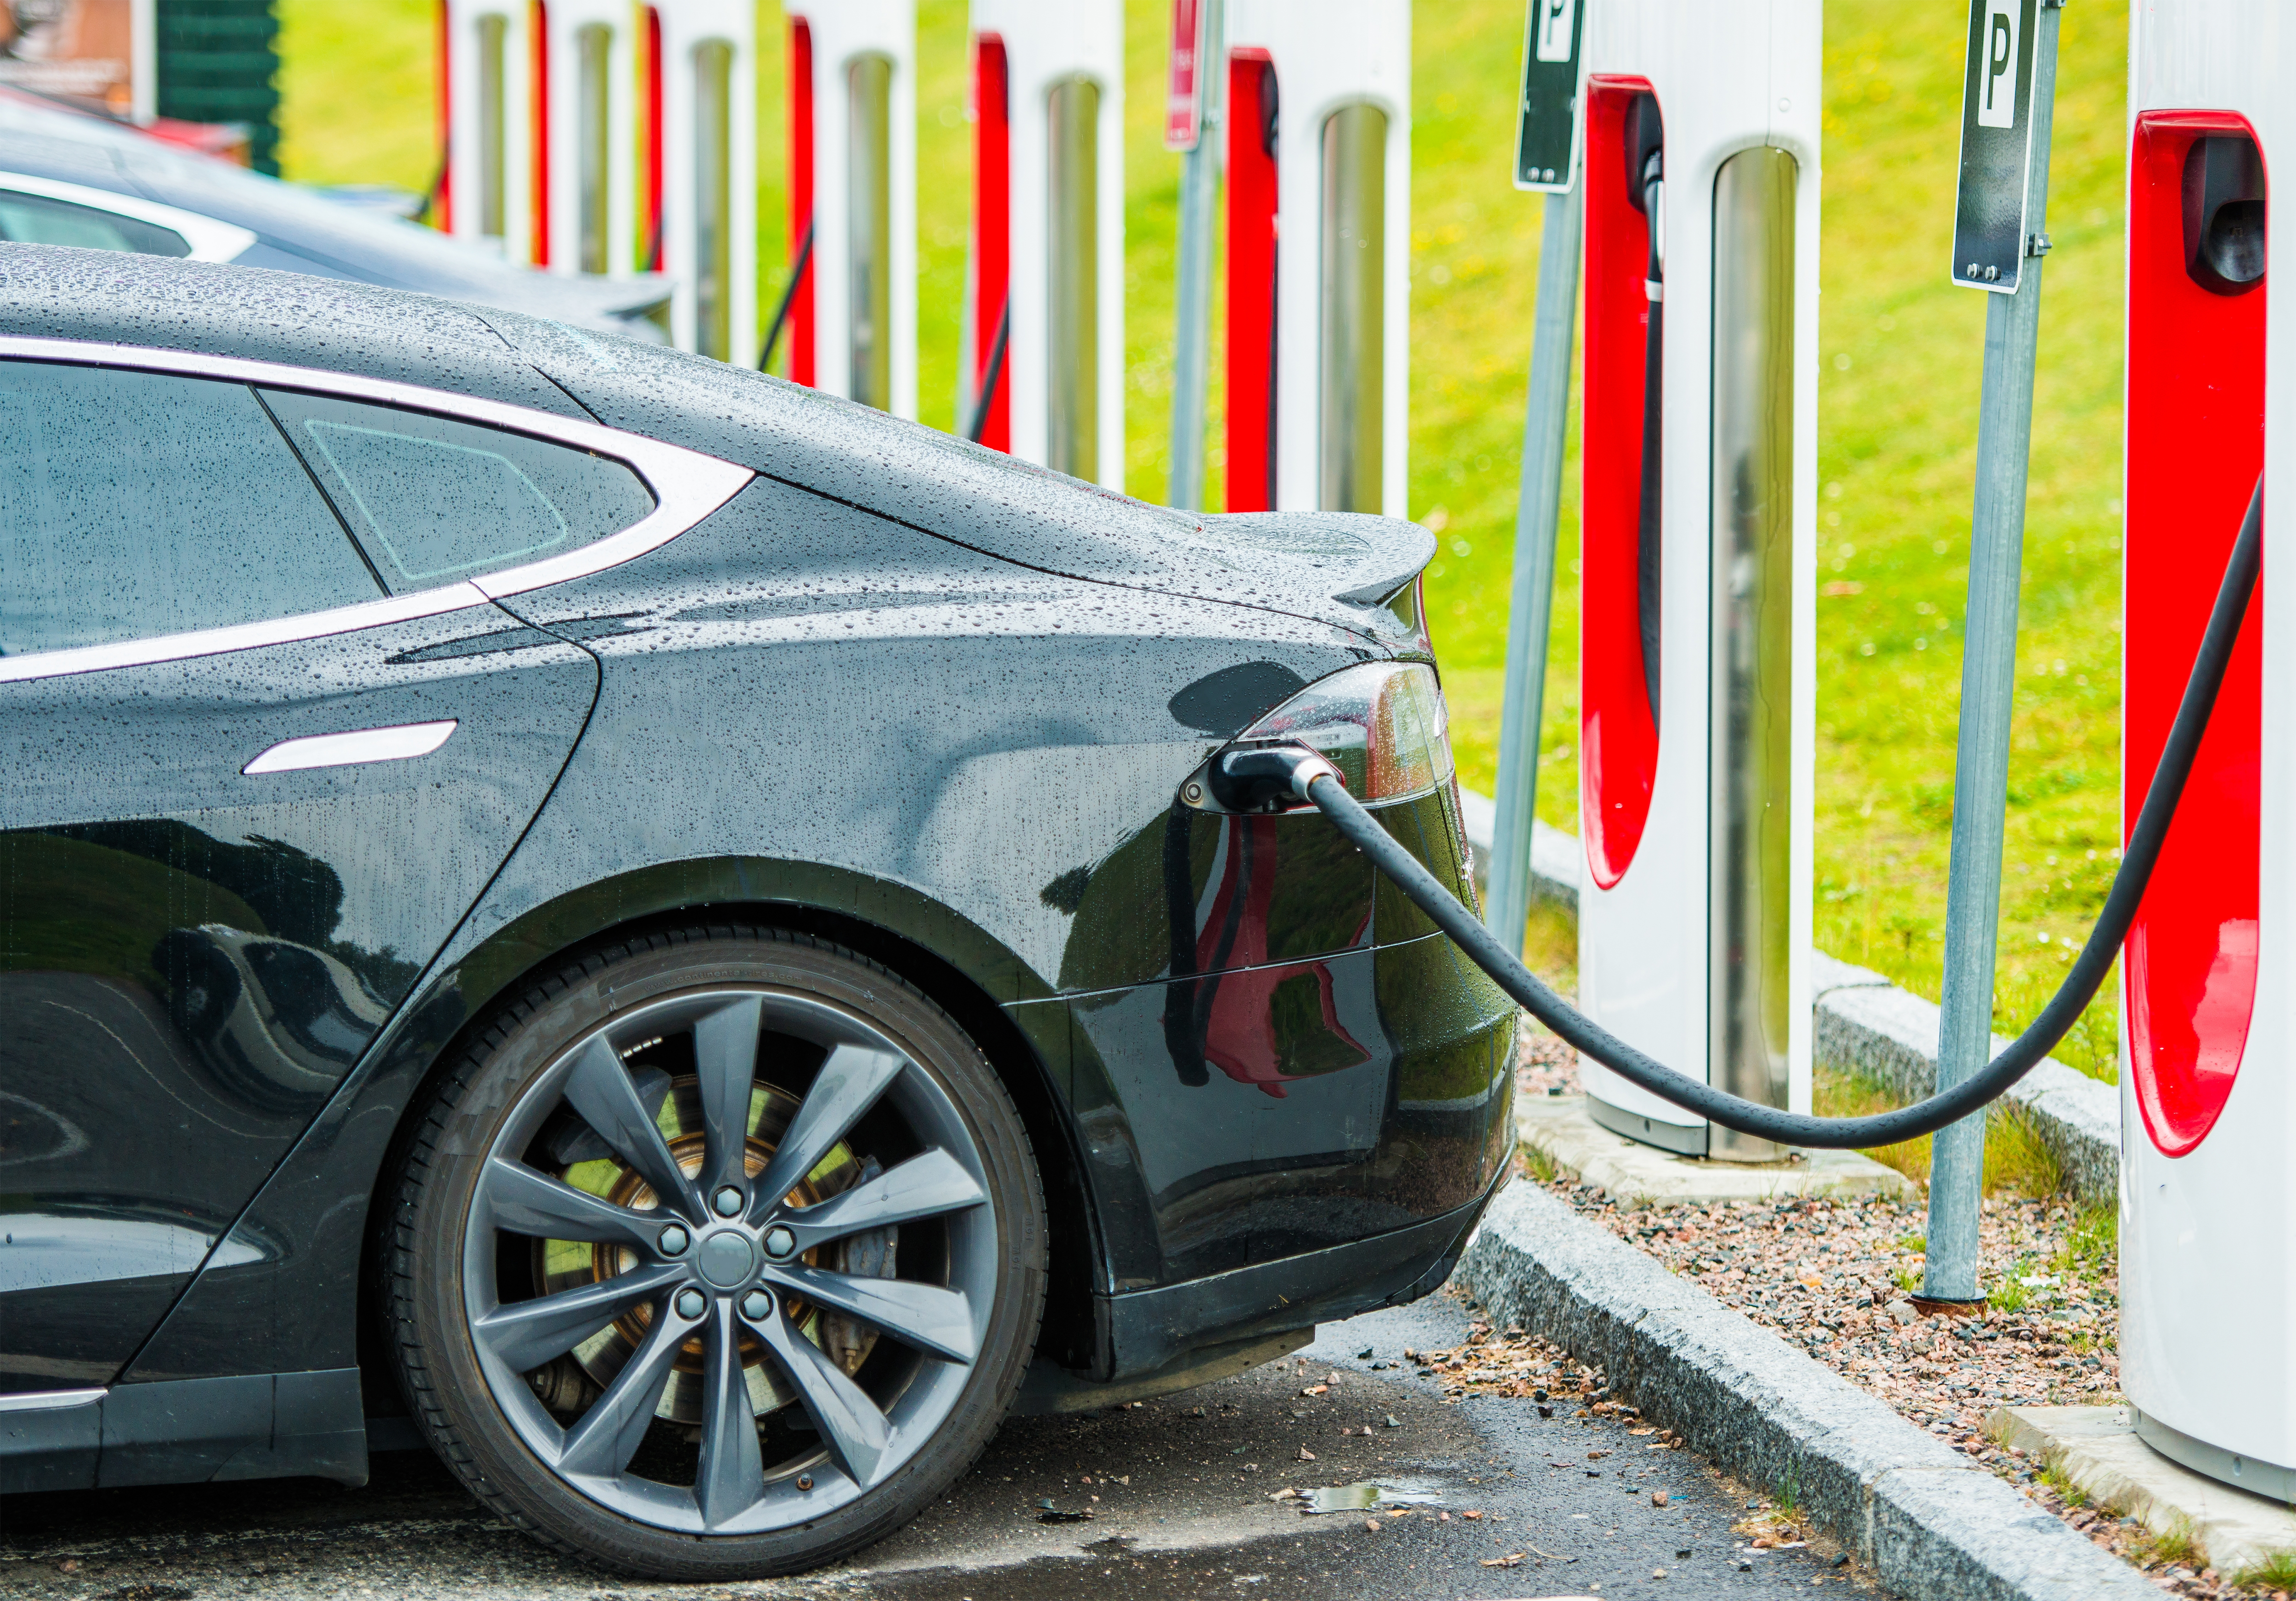
{"type": "MultiPolygon", "coordinates": [[[[1460,818],[1476,864],[1490,854],[1497,806],[1460,790],[1460,818]]],[[[1577,912],[1582,857],[1557,827],[1531,827],[1531,891],[1577,912]]],[[[1479,873],[1481,877],[1481,873],[1479,873]]],[[[1919,1100],[1938,1086],[1938,1004],[1896,988],[1864,967],[1814,953],[1816,1054],[1919,1100]]],[[[1993,1036],[1993,1050],[2007,1045],[1993,1036]]],[[[2112,1204],[2122,1176],[2122,1091],[2087,1073],[2043,1061],[2007,1100],[2064,1165],[2066,1183],[2087,1201],[2112,1204]]]]}

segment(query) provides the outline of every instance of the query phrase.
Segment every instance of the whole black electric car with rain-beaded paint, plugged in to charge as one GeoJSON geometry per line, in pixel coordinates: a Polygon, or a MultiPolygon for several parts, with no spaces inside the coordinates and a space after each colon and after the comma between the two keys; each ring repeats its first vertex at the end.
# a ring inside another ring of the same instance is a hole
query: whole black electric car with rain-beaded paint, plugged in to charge
{"type": "Polygon", "coordinates": [[[0,246],[0,1488],[429,1445],[675,1578],[1435,1289],[1515,1011],[1375,517],[661,347],[0,246]]]}

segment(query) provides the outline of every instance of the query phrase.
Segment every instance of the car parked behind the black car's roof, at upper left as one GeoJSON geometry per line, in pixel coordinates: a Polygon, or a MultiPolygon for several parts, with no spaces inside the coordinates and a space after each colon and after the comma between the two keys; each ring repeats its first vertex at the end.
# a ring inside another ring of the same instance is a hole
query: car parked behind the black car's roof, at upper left
{"type": "Polygon", "coordinates": [[[579,328],[668,340],[670,280],[512,266],[133,126],[0,87],[0,241],[138,250],[416,289],[579,328]]]}

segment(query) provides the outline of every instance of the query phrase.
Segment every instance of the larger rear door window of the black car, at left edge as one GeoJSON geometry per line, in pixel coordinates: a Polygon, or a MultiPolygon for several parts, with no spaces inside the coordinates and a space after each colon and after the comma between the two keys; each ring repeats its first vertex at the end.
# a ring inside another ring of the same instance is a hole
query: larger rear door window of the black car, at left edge
{"type": "Polygon", "coordinates": [[[374,597],[255,390],[0,361],[0,655],[374,597]]]}

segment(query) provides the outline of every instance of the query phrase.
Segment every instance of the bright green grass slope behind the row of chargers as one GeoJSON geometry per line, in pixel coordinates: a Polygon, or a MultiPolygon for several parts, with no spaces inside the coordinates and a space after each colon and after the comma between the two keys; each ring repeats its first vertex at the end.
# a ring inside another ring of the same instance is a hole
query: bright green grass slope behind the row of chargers
{"type": "MultiPolygon", "coordinates": [[[[280,158],[305,181],[422,188],[436,170],[432,0],[278,0],[280,158]]],[[[1162,0],[1127,0],[1127,487],[1169,464],[1176,156],[1159,145],[1162,0]]],[[[1963,21],[1825,7],[1818,944],[1936,997],[1952,825],[1981,296],[1945,283],[1963,21]]],[[[765,294],[785,260],[783,23],[760,7],[765,294]]],[[[1508,186],[1522,7],[1421,5],[1412,126],[1412,515],[1442,551],[1430,616],[1467,783],[1488,788],[1513,560],[1538,200],[1508,186]]],[[[2053,990],[2119,841],[2122,136],[2126,2],[2066,7],[1998,1022],[2053,990]]],[[[923,418],[955,418],[967,186],[964,7],[918,5],[923,418]]],[[[1215,374],[1219,370],[1215,347],[1215,374]]],[[[1219,393],[1212,395],[1215,441],[1219,393]]],[[[1219,503],[1221,462],[1210,455],[1219,503]]],[[[1561,572],[1575,572],[1577,464],[1561,572]]],[[[1577,586],[1554,597],[1538,811],[1575,829],[1577,586]]],[[[2112,1077],[2110,992],[2057,1052],[2112,1077]]]]}

